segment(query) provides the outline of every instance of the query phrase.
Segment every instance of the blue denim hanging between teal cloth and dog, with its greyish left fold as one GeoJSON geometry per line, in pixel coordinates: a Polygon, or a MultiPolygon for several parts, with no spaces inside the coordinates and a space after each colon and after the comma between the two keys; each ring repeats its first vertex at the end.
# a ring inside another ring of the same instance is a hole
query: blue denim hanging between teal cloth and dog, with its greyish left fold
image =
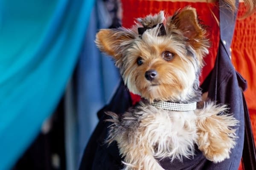
{"type": "Polygon", "coordinates": [[[97,31],[111,24],[106,4],[96,0],[77,68],[65,96],[67,170],[79,166],[84,147],[98,123],[96,113],[109,102],[119,82],[113,61],[102,54],[94,42],[97,31]]]}

